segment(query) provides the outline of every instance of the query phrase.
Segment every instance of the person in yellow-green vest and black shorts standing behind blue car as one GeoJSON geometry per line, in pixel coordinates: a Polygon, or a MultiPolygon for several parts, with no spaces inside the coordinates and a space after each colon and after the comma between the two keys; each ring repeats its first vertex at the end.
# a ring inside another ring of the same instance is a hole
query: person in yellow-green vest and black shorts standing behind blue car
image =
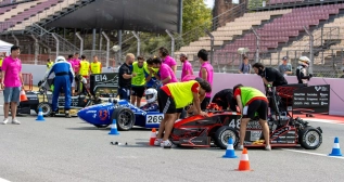
{"type": "Polygon", "coordinates": [[[132,73],[136,76],[131,78],[131,104],[135,105],[136,102],[138,107],[141,106],[141,99],[145,90],[145,66],[146,63],[142,56],[138,56],[138,61],[132,63],[132,73]]]}

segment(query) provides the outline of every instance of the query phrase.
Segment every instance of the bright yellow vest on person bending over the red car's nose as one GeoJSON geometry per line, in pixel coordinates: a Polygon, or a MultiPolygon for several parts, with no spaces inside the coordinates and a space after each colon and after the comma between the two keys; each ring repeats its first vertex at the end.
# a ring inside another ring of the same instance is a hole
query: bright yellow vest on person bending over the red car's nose
{"type": "Polygon", "coordinates": [[[186,107],[193,102],[191,88],[195,82],[198,81],[190,80],[186,82],[173,82],[166,84],[175,100],[177,108],[186,107]]]}

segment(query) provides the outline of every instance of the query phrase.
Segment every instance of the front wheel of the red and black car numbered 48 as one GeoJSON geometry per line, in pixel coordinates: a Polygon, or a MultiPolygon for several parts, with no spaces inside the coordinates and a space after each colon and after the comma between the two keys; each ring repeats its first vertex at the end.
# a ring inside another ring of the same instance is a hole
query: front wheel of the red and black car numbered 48
{"type": "Polygon", "coordinates": [[[215,132],[214,142],[221,150],[226,150],[228,145],[228,139],[230,136],[233,139],[233,146],[237,146],[239,142],[237,130],[228,126],[222,126],[215,132]]]}

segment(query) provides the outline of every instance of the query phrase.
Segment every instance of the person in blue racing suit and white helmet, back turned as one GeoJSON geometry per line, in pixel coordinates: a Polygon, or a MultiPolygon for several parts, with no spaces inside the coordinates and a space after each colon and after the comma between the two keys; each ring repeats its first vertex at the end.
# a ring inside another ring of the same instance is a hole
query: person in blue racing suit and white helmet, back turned
{"type": "Polygon", "coordinates": [[[58,56],[55,60],[55,63],[52,65],[51,69],[47,74],[46,78],[49,78],[49,76],[54,73],[55,78],[53,81],[54,84],[54,90],[53,90],[53,95],[52,95],[52,115],[55,114],[58,110],[58,100],[59,100],[59,94],[64,90],[64,96],[65,96],[65,115],[66,117],[71,117],[69,109],[71,109],[71,102],[72,102],[72,82],[74,79],[74,72],[72,68],[71,63],[68,63],[63,56],[58,56]]]}

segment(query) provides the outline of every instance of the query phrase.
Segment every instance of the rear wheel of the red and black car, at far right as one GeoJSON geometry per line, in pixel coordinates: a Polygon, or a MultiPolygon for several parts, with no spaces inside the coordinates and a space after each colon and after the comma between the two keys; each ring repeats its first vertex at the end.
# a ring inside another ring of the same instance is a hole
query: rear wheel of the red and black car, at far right
{"type": "Polygon", "coordinates": [[[298,132],[298,142],[306,150],[316,150],[322,143],[322,134],[313,127],[306,127],[298,132]]]}

